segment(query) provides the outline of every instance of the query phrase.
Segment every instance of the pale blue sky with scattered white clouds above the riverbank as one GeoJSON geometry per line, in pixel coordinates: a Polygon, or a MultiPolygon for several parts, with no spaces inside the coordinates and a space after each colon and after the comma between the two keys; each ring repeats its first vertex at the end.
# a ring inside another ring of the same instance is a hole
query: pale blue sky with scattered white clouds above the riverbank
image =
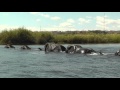
{"type": "Polygon", "coordinates": [[[120,30],[120,12],[0,12],[0,32],[120,30]]]}

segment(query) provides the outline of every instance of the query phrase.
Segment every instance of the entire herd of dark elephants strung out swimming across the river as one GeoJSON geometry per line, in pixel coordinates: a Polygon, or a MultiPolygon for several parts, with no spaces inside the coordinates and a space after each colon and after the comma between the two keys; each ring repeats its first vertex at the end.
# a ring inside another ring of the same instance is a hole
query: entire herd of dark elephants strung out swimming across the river
{"type": "MultiPolygon", "coordinates": [[[[5,48],[14,48],[15,47],[11,44],[7,44],[5,48]]],[[[31,48],[27,45],[23,45],[20,47],[21,50],[31,50],[31,48]]],[[[55,44],[55,43],[46,43],[44,45],[44,49],[38,48],[40,51],[45,51],[45,53],[49,52],[65,52],[68,54],[97,54],[97,55],[104,55],[101,51],[95,51],[92,48],[84,48],[81,45],[68,45],[67,47],[61,45],[61,44],[55,44]]],[[[120,56],[120,50],[116,51],[115,56],[120,56]]]]}

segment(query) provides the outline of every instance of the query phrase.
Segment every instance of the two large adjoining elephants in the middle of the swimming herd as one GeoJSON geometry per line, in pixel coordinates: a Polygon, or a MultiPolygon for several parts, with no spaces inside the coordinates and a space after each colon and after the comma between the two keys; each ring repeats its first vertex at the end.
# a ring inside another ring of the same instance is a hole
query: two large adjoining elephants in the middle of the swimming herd
{"type": "Polygon", "coordinates": [[[47,43],[45,44],[45,52],[65,52],[65,53],[79,53],[79,54],[99,54],[103,55],[102,52],[95,51],[91,48],[83,48],[80,45],[68,45],[67,48],[65,48],[63,45],[55,44],[55,43],[47,43]]]}

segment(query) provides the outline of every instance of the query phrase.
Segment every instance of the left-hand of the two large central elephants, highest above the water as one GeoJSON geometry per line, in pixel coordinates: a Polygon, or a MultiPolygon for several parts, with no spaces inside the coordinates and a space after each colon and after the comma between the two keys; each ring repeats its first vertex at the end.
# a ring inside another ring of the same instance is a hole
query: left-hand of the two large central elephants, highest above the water
{"type": "Polygon", "coordinates": [[[64,52],[66,48],[63,45],[55,44],[55,43],[46,43],[45,44],[45,52],[64,52]]]}

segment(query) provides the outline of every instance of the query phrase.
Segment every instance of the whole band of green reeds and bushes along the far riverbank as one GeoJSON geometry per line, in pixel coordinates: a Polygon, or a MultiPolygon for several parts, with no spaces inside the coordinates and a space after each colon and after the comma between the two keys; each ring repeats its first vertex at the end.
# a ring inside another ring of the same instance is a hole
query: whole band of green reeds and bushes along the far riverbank
{"type": "Polygon", "coordinates": [[[4,30],[0,33],[0,44],[45,44],[55,42],[62,44],[83,43],[120,43],[120,32],[105,31],[66,31],[66,32],[38,32],[25,28],[4,30]]]}

